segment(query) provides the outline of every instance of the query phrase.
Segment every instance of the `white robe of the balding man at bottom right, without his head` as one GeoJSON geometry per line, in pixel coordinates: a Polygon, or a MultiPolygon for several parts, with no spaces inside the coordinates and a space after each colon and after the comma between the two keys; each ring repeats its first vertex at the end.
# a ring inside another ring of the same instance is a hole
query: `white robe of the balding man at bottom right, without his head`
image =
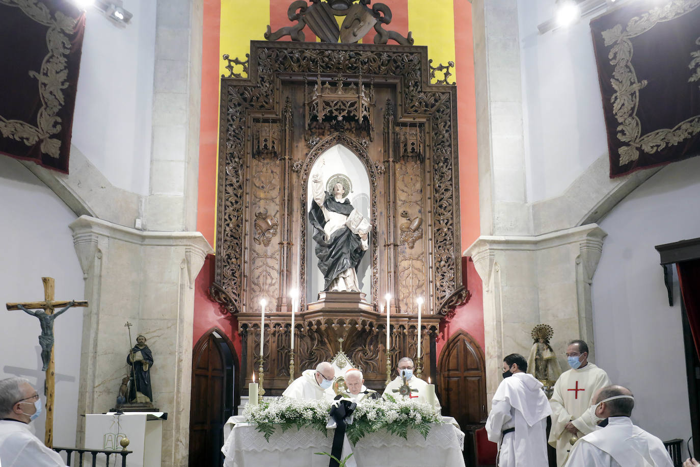
{"type": "Polygon", "coordinates": [[[610,417],[608,426],[581,438],[566,467],[672,467],[664,443],[632,424],[629,417],[610,417]]]}

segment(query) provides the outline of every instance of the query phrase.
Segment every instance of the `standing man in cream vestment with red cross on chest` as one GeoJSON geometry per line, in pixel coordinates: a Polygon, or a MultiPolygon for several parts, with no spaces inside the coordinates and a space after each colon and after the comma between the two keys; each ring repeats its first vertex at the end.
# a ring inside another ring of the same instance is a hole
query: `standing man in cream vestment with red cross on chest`
{"type": "Polygon", "coordinates": [[[562,467],[571,450],[572,436],[580,438],[596,429],[599,417],[591,401],[605,386],[610,386],[608,374],[588,361],[588,344],[582,340],[569,342],[566,358],[571,367],[554,384],[549,403],[552,405],[552,429],[549,444],[556,447],[556,465],[562,467]]]}

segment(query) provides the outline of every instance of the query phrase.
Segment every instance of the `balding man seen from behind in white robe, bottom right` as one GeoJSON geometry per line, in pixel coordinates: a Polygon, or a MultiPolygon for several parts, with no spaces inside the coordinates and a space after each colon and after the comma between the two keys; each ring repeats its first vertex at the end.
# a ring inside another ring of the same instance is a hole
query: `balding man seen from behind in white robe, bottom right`
{"type": "Polygon", "coordinates": [[[664,443],[632,424],[634,397],[622,386],[607,386],[596,393],[596,417],[608,426],[585,435],[571,450],[566,467],[673,467],[664,443]]]}

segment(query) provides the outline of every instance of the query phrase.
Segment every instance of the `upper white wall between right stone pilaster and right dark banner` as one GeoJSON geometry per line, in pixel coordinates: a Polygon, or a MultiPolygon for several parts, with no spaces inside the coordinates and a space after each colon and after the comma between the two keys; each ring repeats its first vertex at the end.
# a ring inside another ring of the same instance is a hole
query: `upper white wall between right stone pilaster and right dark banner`
{"type": "Polygon", "coordinates": [[[527,200],[561,195],[608,153],[590,18],[539,34],[552,0],[518,0],[527,200]]]}

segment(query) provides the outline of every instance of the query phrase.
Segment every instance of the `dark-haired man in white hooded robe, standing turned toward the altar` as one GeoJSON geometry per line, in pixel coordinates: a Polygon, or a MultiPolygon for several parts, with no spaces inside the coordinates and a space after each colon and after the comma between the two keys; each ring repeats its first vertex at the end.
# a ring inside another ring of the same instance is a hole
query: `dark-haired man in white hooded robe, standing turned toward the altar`
{"type": "Polygon", "coordinates": [[[542,383],[526,373],[524,356],[503,358],[503,381],[486,420],[489,440],[498,444],[499,467],[547,467],[547,417],[552,413],[542,383]]]}

